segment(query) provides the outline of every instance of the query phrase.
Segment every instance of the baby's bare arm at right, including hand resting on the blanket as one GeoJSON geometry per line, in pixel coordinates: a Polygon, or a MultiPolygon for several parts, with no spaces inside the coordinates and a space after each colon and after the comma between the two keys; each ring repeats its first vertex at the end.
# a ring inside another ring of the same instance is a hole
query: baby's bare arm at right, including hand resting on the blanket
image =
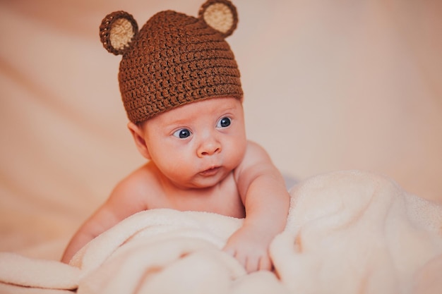
{"type": "Polygon", "coordinates": [[[280,172],[265,150],[249,142],[243,162],[235,171],[244,206],[244,224],[227,240],[225,251],[248,272],[272,269],[268,247],[285,228],[289,194],[280,172]]]}

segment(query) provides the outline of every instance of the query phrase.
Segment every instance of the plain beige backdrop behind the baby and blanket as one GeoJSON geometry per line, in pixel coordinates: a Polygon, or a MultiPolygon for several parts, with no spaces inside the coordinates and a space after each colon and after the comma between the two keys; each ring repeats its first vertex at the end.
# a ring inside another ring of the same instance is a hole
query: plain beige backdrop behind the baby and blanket
{"type": "MultiPolygon", "coordinates": [[[[0,250],[59,258],[143,164],[126,130],[112,11],[143,25],[203,1],[0,1],[0,250]]],[[[442,202],[442,2],[237,0],[227,40],[247,132],[287,176],[364,169],[442,202]]]]}

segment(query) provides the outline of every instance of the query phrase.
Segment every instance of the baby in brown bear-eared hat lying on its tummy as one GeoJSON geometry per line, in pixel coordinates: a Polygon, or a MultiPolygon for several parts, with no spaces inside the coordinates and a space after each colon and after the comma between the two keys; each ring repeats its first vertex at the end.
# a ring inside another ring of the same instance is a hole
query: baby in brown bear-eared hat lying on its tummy
{"type": "Polygon", "coordinates": [[[248,272],[272,269],[268,247],[285,228],[289,195],[268,154],[246,139],[239,70],[225,42],[237,22],[227,0],[208,0],[198,18],[162,11],[139,32],[129,13],[104,18],[101,40],[123,56],[128,127],[148,162],[85,221],[62,262],[126,217],[170,208],[245,218],[225,252],[248,272]]]}

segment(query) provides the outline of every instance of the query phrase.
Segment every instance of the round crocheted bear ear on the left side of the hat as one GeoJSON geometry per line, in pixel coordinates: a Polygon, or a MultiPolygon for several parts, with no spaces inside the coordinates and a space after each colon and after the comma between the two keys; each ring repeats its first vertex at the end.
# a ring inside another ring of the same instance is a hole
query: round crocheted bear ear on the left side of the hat
{"type": "Polygon", "coordinates": [[[109,13],[100,25],[100,40],[104,48],[115,55],[124,54],[137,33],[136,20],[125,11],[109,13]]]}

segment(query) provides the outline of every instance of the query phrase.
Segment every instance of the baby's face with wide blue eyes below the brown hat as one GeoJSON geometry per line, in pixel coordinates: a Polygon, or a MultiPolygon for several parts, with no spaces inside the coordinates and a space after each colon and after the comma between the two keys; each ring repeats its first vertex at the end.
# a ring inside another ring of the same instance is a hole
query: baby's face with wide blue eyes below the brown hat
{"type": "Polygon", "coordinates": [[[235,98],[180,106],[151,118],[143,130],[151,160],[181,188],[219,183],[246,151],[244,111],[235,98]]]}

